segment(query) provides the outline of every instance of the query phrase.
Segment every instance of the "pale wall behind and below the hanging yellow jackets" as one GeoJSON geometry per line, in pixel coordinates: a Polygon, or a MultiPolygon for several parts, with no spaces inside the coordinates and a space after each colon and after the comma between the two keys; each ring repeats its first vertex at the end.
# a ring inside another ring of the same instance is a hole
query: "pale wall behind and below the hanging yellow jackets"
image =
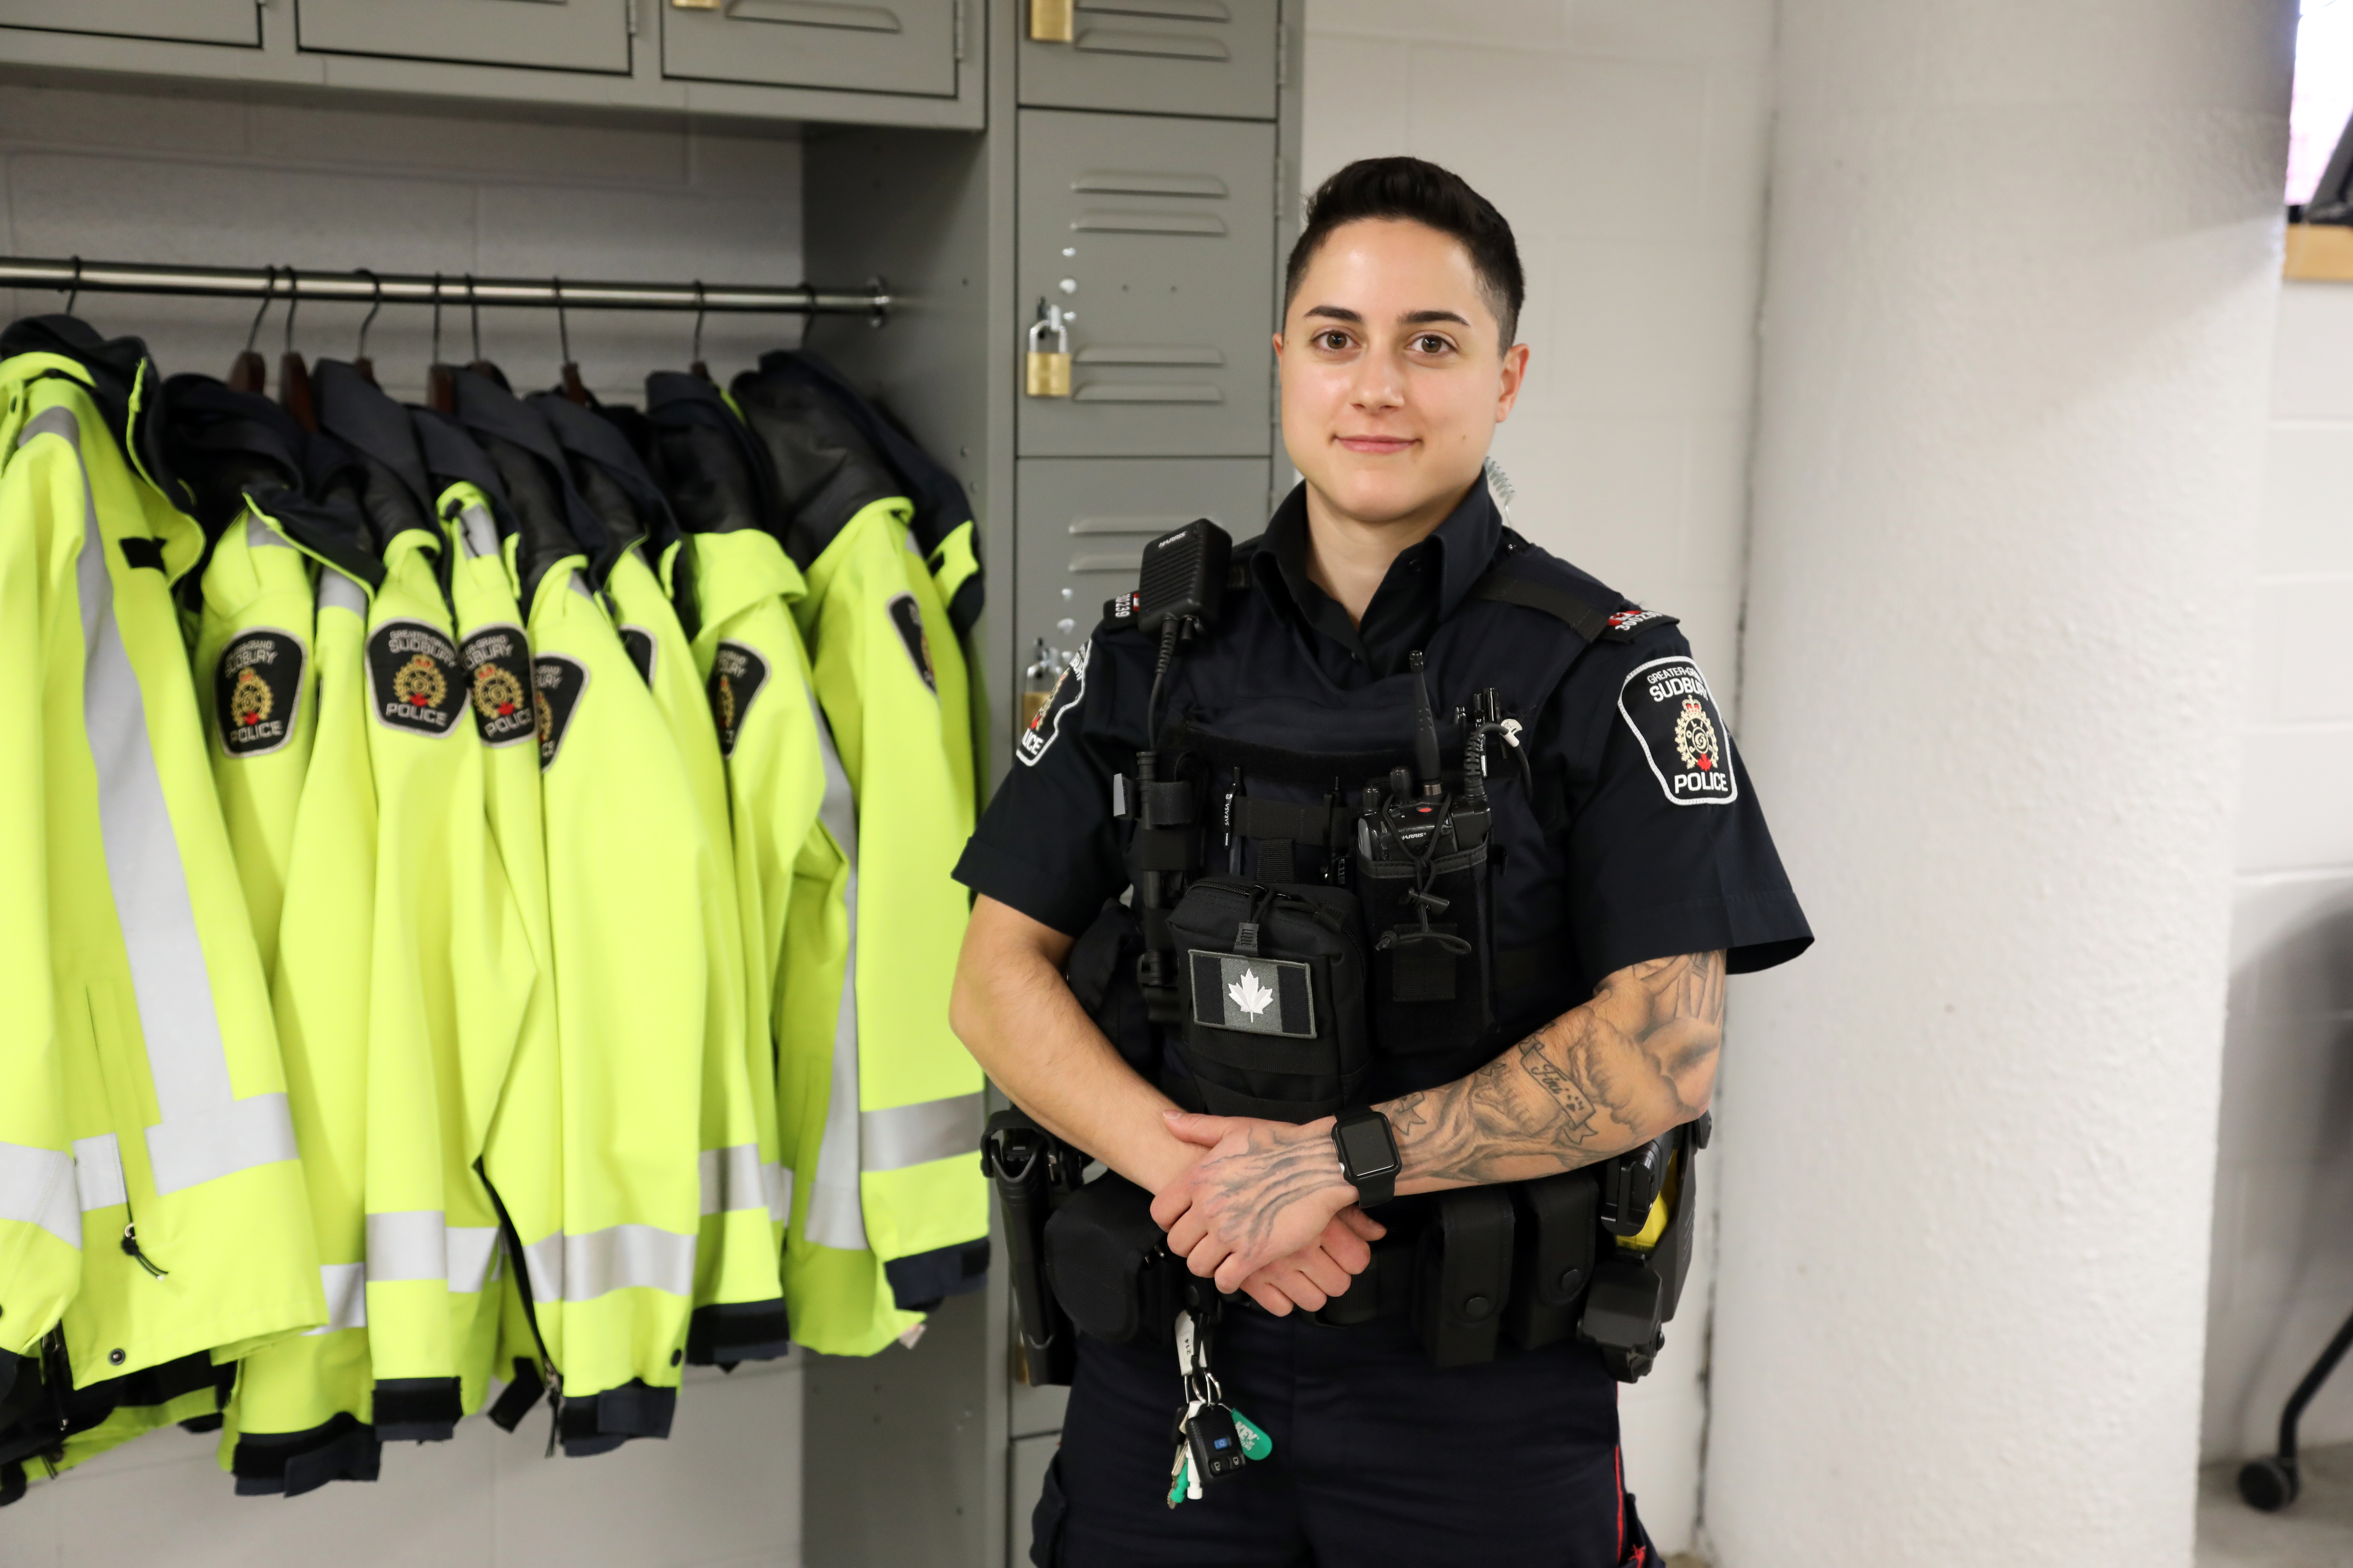
{"type": "MultiPolygon", "coordinates": [[[[0,254],[214,266],[800,280],[791,136],[562,127],[438,113],[285,108],[169,89],[0,82],[0,254]]],[[[0,289],[0,320],[59,308],[0,289]]],[[[172,374],[226,374],[249,306],[85,294],[108,334],[148,339],[172,374]]],[[[362,310],[306,306],[296,348],[351,357],[362,310]]],[[[275,376],[280,315],[261,348],[275,376]]],[[[386,308],[372,353],[416,397],[428,317],[386,308]]],[[[638,402],[682,369],[692,317],[574,313],[588,383],[638,402]]],[[[774,317],[711,317],[715,374],[798,339],[774,317]]],[[[482,350],[518,388],[555,378],[555,317],[482,313],[482,350]]],[[[464,310],[442,353],[468,360],[464,310]]],[[[398,1446],[376,1486],[235,1497],[216,1439],[160,1432],[0,1509],[7,1568],[751,1568],[800,1563],[800,1368],[694,1373],[668,1443],[546,1460],[546,1410],[508,1436],[398,1446]]]]}

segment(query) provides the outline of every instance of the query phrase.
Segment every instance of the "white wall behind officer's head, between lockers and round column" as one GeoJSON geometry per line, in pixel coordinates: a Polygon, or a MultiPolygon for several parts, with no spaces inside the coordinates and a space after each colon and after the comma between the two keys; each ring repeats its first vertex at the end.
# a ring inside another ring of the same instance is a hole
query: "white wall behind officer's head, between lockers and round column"
{"type": "MultiPolygon", "coordinates": [[[[1306,42],[1301,190],[1353,158],[1414,153],[1468,179],[1520,240],[1529,381],[1497,437],[1520,491],[1513,522],[1680,616],[1725,691],[1748,505],[1772,9],[1313,0],[1306,42]]],[[[1734,983],[1732,1053],[1748,1048],[1744,987],[1734,983]]],[[[1628,1486],[1671,1552],[1699,1512],[1708,1255],[1701,1234],[1666,1356],[1621,1401],[1628,1486]]]]}

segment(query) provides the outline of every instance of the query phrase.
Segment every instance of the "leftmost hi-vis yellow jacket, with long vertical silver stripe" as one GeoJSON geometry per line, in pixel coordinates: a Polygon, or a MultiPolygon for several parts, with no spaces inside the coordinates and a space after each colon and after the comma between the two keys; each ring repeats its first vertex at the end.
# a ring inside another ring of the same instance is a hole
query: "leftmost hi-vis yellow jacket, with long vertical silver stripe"
{"type": "Polygon", "coordinates": [[[0,639],[38,696],[0,762],[0,1368],[61,1331],[82,1392],[325,1319],[155,393],[132,339],[0,334],[0,639]]]}

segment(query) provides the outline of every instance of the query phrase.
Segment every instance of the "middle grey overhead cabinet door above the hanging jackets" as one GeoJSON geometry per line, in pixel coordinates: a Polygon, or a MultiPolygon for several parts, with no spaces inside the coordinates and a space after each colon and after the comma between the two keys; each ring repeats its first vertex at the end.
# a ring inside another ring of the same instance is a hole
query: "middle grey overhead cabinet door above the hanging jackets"
{"type": "Polygon", "coordinates": [[[296,0],[304,49],[628,73],[631,0],[296,0]]]}

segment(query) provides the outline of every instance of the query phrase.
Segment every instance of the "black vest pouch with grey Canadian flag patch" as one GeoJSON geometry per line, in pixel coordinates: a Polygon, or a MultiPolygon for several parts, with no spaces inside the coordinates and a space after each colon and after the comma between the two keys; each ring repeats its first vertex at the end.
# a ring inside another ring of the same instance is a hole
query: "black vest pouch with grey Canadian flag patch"
{"type": "Polygon", "coordinates": [[[1202,877],[1169,910],[1174,1034],[1217,1117],[1313,1121],[1365,1088],[1365,952],[1348,889],[1202,877]]]}

